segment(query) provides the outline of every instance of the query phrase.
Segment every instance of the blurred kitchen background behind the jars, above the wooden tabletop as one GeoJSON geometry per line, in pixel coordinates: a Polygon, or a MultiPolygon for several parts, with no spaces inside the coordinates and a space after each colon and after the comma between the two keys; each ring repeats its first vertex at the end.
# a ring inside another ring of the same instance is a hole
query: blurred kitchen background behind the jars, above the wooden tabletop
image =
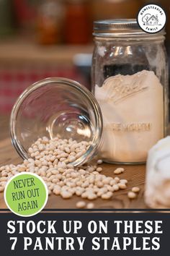
{"type": "Polygon", "coordinates": [[[170,61],[169,0],[0,0],[0,114],[10,113],[18,95],[45,77],[90,88],[93,21],[136,18],[151,2],[168,17],[170,61]]]}

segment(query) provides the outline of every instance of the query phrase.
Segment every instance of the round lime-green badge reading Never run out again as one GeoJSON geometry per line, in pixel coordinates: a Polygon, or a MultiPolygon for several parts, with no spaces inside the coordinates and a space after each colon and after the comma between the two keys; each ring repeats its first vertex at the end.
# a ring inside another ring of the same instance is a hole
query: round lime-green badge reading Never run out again
{"type": "Polygon", "coordinates": [[[34,216],[45,207],[48,188],[37,174],[22,172],[7,182],[4,200],[7,207],[18,216],[34,216]]]}

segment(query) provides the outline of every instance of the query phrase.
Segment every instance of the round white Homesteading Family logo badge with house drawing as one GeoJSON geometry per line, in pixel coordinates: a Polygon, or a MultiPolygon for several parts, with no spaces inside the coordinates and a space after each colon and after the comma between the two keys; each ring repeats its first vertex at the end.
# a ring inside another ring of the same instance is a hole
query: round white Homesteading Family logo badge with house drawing
{"type": "Polygon", "coordinates": [[[158,33],[166,24],[166,14],[157,4],[148,4],[140,9],[137,20],[146,33],[158,33]]]}

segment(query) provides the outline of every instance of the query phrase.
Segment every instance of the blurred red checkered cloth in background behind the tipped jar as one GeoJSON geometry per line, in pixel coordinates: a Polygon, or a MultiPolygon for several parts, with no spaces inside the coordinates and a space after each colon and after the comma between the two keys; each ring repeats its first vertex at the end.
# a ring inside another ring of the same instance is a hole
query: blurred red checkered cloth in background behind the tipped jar
{"type": "Polygon", "coordinates": [[[0,114],[10,113],[14,102],[25,88],[46,77],[66,77],[86,85],[86,79],[76,68],[0,67],[0,114]]]}

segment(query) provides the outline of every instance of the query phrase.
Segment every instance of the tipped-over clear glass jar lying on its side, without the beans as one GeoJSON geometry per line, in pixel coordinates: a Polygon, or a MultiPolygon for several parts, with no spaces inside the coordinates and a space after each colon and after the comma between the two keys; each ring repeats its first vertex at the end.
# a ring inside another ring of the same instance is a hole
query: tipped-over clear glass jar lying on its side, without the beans
{"type": "Polygon", "coordinates": [[[40,137],[87,141],[91,145],[74,161],[80,166],[89,161],[102,138],[102,113],[89,90],[79,82],[55,77],[41,80],[24,90],[14,104],[10,118],[12,144],[23,159],[40,137]]]}

